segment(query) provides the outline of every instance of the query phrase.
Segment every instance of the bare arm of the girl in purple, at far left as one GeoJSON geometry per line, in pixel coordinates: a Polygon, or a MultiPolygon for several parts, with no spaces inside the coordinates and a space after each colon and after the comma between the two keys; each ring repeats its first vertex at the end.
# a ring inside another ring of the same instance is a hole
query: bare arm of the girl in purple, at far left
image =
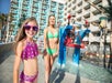
{"type": "Polygon", "coordinates": [[[19,69],[21,63],[21,53],[22,53],[22,42],[19,42],[16,46],[16,54],[13,65],[13,83],[19,83],[19,69]]]}

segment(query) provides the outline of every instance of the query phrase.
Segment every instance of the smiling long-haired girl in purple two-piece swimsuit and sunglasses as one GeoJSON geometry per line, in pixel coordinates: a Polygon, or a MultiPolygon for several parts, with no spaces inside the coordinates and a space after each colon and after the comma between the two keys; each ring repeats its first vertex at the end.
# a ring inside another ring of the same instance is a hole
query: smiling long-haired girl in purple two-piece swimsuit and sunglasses
{"type": "Polygon", "coordinates": [[[26,19],[15,39],[15,59],[13,66],[13,83],[37,83],[38,49],[33,37],[38,32],[35,18],[26,19]],[[23,71],[19,76],[20,64],[23,62],[23,71]],[[20,80],[20,82],[19,82],[20,80]]]}

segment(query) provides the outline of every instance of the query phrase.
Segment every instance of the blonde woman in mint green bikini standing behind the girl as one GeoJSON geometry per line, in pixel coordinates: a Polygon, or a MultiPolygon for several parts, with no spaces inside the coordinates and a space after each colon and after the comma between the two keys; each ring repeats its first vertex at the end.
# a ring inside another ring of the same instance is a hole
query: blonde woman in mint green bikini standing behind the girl
{"type": "Polygon", "coordinates": [[[48,27],[44,29],[44,60],[45,60],[45,83],[49,83],[49,75],[55,58],[59,50],[58,28],[55,28],[55,17],[49,15],[48,27]]]}

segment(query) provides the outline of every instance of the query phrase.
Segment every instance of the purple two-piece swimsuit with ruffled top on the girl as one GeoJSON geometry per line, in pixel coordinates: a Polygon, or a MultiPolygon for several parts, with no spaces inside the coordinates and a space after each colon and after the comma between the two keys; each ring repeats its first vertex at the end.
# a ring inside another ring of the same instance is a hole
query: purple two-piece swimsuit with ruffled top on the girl
{"type": "MultiPolygon", "coordinates": [[[[22,51],[22,60],[33,59],[38,55],[37,44],[35,42],[27,42],[25,49],[22,51]]],[[[37,72],[38,73],[38,72],[37,72]]],[[[25,75],[22,71],[20,74],[20,83],[24,83],[25,81],[33,83],[37,77],[37,73],[34,75],[25,75]]]]}

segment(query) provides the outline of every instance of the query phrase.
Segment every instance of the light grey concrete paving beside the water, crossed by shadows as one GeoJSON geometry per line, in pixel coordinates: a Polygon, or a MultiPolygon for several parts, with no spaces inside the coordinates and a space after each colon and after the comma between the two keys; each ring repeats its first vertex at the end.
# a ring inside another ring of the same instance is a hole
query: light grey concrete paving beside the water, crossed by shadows
{"type": "MultiPolygon", "coordinates": [[[[0,64],[0,83],[12,83],[12,69],[14,55],[12,53],[0,64]]],[[[44,83],[44,61],[38,56],[38,83],[44,83]]],[[[21,69],[22,70],[22,65],[21,69]]],[[[81,77],[79,74],[70,74],[63,69],[53,68],[51,83],[98,83],[97,81],[81,77]]]]}

